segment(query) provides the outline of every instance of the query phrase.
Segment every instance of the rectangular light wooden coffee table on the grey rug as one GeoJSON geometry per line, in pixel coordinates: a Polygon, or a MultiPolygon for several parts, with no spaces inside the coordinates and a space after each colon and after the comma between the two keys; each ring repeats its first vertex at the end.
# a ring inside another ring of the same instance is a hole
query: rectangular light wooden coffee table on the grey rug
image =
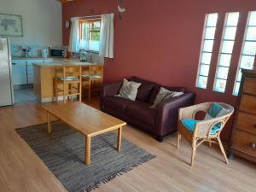
{"type": "Polygon", "coordinates": [[[121,149],[122,127],[126,123],[81,102],[51,103],[43,106],[47,112],[48,132],[52,132],[50,116],[79,131],[85,137],[84,163],[90,165],[90,139],[108,131],[118,130],[117,150],[121,149]]]}

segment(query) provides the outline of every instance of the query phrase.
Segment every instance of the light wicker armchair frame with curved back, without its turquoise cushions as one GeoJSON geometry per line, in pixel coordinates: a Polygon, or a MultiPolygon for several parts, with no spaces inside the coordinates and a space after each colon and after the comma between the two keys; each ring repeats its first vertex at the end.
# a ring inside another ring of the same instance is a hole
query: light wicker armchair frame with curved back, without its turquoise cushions
{"type": "Polygon", "coordinates": [[[212,102],[205,102],[205,103],[194,105],[188,108],[179,109],[178,123],[177,123],[177,148],[179,148],[179,141],[181,139],[181,136],[183,136],[191,144],[191,147],[192,147],[191,164],[190,164],[191,166],[194,165],[196,148],[199,147],[201,143],[204,143],[204,142],[208,142],[210,147],[211,147],[211,143],[217,143],[219,145],[219,148],[221,149],[222,154],[224,155],[224,159],[226,163],[229,164],[229,161],[227,159],[223,145],[220,140],[220,133],[224,128],[224,125],[226,124],[228,119],[230,119],[231,114],[234,113],[234,108],[222,102],[219,102],[218,104],[220,104],[226,109],[229,109],[229,112],[224,114],[221,117],[201,120],[198,123],[195,123],[194,131],[189,131],[186,127],[184,127],[181,120],[195,119],[195,114],[201,111],[207,113],[207,110],[211,107],[212,102]],[[212,127],[215,125],[219,125],[219,130],[216,133],[212,134],[211,133],[212,127]]]}

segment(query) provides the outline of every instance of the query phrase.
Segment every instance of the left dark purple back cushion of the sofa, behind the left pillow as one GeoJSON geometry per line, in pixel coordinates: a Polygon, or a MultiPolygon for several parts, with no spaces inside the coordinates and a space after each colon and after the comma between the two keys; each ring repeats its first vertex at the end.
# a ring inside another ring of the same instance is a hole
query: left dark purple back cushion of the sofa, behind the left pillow
{"type": "Polygon", "coordinates": [[[131,77],[129,80],[142,84],[137,90],[136,99],[139,101],[148,102],[148,98],[151,94],[151,90],[154,88],[155,83],[148,80],[139,79],[135,76],[131,77]]]}

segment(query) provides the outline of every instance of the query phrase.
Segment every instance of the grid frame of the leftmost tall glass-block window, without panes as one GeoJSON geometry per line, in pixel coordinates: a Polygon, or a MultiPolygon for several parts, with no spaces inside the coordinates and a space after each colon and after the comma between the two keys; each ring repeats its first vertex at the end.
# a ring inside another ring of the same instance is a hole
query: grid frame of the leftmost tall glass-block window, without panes
{"type": "Polygon", "coordinates": [[[195,87],[196,88],[207,89],[207,84],[206,84],[206,87],[202,87],[202,86],[199,85],[199,80],[200,80],[200,77],[204,77],[204,78],[207,78],[207,83],[208,83],[208,77],[209,77],[210,67],[211,67],[211,62],[212,62],[212,53],[213,53],[213,48],[214,48],[214,44],[215,44],[217,27],[218,27],[218,13],[207,14],[205,16],[203,32],[202,32],[202,38],[201,38],[200,57],[199,57],[199,63],[198,63],[198,67],[197,67],[197,74],[196,74],[196,81],[195,81],[195,87]],[[217,15],[217,20],[216,20],[215,26],[207,26],[209,15],[217,15]],[[215,28],[215,30],[214,30],[214,37],[211,38],[211,39],[210,38],[206,38],[207,28],[211,28],[211,27],[215,28]],[[204,50],[204,45],[205,45],[206,40],[212,40],[213,41],[213,43],[212,43],[212,51],[204,50]],[[202,63],[202,57],[203,57],[204,53],[211,54],[211,58],[210,58],[210,63],[209,64],[202,63]],[[201,67],[202,67],[202,65],[206,65],[206,66],[209,67],[207,76],[206,75],[201,75],[201,67]]]}

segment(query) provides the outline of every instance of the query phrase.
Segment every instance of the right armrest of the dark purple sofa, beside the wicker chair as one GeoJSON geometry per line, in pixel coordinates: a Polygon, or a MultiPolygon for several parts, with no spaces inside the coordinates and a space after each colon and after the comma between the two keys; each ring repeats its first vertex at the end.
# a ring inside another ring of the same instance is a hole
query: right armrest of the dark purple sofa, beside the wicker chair
{"type": "Polygon", "coordinates": [[[193,105],[195,94],[185,92],[182,96],[172,97],[161,102],[156,108],[155,134],[165,136],[168,133],[177,131],[178,109],[193,105]]]}

